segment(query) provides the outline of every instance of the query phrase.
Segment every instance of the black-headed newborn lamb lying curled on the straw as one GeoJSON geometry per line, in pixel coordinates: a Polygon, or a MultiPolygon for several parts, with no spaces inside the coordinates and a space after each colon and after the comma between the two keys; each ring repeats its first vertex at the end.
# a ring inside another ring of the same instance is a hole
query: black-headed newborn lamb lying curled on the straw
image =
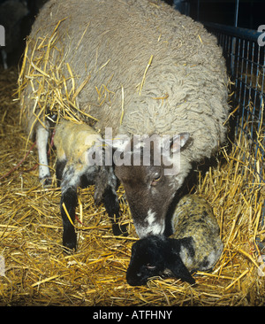
{"type": "Polygon", "coordinates": [[[209,270],[220,258],[223,243],[219,226],[208,202],[195,195],[180,199],[172,217],[170,238],[150,235],[133,244],[126,279],[144,285],[154,276],[173,276],[194,283],[196,270],[209,270]]]}

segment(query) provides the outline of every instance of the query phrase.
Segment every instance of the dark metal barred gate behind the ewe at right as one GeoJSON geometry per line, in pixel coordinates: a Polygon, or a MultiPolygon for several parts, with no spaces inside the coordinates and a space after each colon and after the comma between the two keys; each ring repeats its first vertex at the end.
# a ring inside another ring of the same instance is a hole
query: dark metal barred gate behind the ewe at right
{"type": "Polygon", "coordinates": [[[265,53],[264,46],[259,45],[262,34],[250,29],[213,23],[205,23],[205,27],[216,35],[222,46],[233,82],[233,101],[238,108],[236,135],[243,132],[248,137],[254,154],[253,170],[259,174],[261,183],[265,183],[262,176],[265,167],[265,53]],[[259,139],[257,134],[261,135],[259,139]],[[262,163],[257,164],[257,154],[261,155],[262,163]]]}

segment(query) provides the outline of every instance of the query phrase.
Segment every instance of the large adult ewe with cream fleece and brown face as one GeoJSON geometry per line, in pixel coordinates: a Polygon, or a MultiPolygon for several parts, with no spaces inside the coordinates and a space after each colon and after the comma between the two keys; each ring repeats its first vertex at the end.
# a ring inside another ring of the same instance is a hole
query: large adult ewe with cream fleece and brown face
{"type": "Polygon", "coordinates": [[[125,187],[137,234],[163,234],[166,212],[192,162],[210,157],[225,139],[227,77],[215,36],[159,0],[50,0],[30,35],[34,42],[42,40],[40,46],[28,45],[27,57],[34,52],[35,64],[45,58],[45,36],[58,51],[43,60],[21,96],[22,120],[28,133],[36,135],[40,178],[49,177],[49,124],[38,105],[47,89],[39,89],[40,78],[49,84],[52,76],[42,74],[44,66],[49,71],[60,66],[61,84],[71,87],[73,75],[81,89],[79,118],[91,124],[88,114],[93,116],[103,137],[111,127],[117,139],[112,149],[120,159],[139,150],[140,166],[120,163],[115,173],[125,187]],[[127,139],[120,142],[120,135],[127,139]],[[160,165],[152,158],[149,165],[143,163],[144,144],[131,145],[133,135],[169,136],[169,141],[150,145],[151,156],[158,152],[163,159],[160,165]],[[165,147],[167,157],[161,154],[165,147]],[[165,174],[175,153],[180,167],[165,174]]]}

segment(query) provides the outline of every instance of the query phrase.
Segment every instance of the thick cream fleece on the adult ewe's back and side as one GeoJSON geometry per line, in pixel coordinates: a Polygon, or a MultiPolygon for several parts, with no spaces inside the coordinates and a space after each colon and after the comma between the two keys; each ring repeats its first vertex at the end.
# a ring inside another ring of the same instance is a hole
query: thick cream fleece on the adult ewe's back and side
{"type": "MultiPolygon", "coordinates": [[[[209,157],[223,142],[229,111],[224,59],[200,23],[159,1],[51,0],[30,37],[51,35],[59,20],[61,68],[69,75],[69,63],[76,88],[91,75],[79,107],[99,120],[102,135],[104,127],[113,135],[189,132],[189,160],[209,157]]],[[[23,103],[28,131],[34,120],[30,87],[23,103]]]]}

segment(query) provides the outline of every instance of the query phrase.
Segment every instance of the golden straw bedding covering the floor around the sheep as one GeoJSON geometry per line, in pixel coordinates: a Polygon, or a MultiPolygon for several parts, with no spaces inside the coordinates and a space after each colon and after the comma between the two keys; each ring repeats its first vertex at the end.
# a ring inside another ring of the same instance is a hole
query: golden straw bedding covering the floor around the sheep
{"type": "MultiPolygon", "coordinates": [[[[0,71],[0,178],[26,152],[19,103],[11,97],[17,78],[15,69],[0,71]]],[[[137,236],[122,189],[119,197],[129,237],[112,235],[104,208],[94,204],[93,187],[82,189],[79,250],[64,254],[60,192],[55,185],[42,189],[35,168],[37,151],[30,150],[18,169],[0,180],[0,262],[4,259],[5,265],[3,269],[0,264],[0,305],[265,305],[265,264],[256,244],[265,238],[260,225],[265,188],[257,181],[248,183],[242,156],[249,148],[243,137],[238,145],[231,153],[223,148],[217,166],[204,177],[199,174],[195,191],[214,207],[224,251],[214,271],[197,273],[193,286],[160,278],[145,287],[126,283],[137,236]]],[[[54,152],[50,159],[54,168],[54,152]]]]}

